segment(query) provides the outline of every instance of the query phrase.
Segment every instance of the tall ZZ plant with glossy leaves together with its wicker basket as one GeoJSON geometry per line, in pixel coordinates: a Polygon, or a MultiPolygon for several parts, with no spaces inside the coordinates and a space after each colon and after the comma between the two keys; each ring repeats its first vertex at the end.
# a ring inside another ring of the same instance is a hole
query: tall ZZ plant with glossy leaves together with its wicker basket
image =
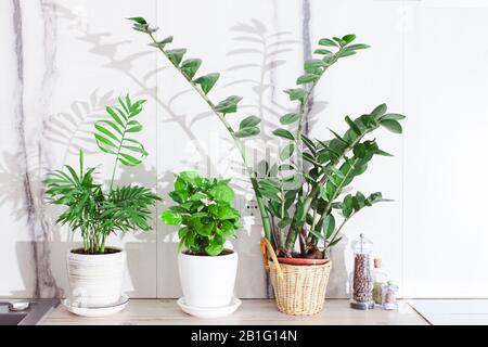
{"type": "Polygon", "coordinates": [[[239,128],[232,127],[228,115],[237,112],[242,98],[231,95],[214,103],[208,97],[220,75],[213,73],[195,78],[201,60],[183,60],[187,49],[167,48],[172,37],[158,40],[157,28],[151,27],[144,18],[129,20],[134,30],[150,36],[151,44],[205,100],[240,151],[262,220],[261,248],[279,309],[290,314],[320,312],[332,265],[328,259],[330,248],[341,241],[344,226],[352,216],[384,201],[381,193],[367,196],[356,192],[343,196],[344,189],[367,170],[374,156],[390,155],[369,136],[381,127],[401,133],[399,121],[404,116],[387,113],[386,105],[381,104],[354,119],[346,116],[348,129],[343,134],[331,130],[332,139],[311,139],[304,133],[305,115],[310,111],[310,98],[325,72],[369,46],[354,43],[355,35],[319,41],[316,56],[305,62],[304,74],[296,79],[297,86],[284,90],[297,105],[295,112],[281,116],[282,127],[273,131],[284,140],[280,156],[273,162],[264,162],[260,167],[265,170],[258,172],[249,165],[242,139],[258,134],[261,119],[248,116],[239,128]],[[268,264],[269,257],[274,260],[268,264]]]}

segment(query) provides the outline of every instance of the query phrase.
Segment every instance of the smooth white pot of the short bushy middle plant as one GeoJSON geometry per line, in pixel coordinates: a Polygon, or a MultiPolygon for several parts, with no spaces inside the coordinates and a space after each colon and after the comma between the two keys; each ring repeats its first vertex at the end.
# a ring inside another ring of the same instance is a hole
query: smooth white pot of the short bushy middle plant
{"type": "Polygon", "coordinates": [[[188,306],[215,308],[231,304],[237,274],[237,254],[231,252],[215,257],[178,255],[181,287],[188,306]]]}

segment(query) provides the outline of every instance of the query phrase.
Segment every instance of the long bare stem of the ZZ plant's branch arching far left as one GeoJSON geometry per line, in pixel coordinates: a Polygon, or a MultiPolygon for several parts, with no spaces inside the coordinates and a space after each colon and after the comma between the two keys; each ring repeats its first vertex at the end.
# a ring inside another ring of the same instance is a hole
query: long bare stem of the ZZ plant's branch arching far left
{"type": "Polygon", "coordinates": [[[216,110],[216,106],[215,106],[215,104],[211,102],[211,100],[208,99],[208,97],[203,92],[203,90],[201,90],[201,89],[195,85],[195,82],[194,82],[191,78],[189,78],[185,74],[183,74],[183,73],[181,72],[180,67],[179,67],[177,64],[175,64],[175,63],[168,57],[168,55],[166,54],[165,50],[164,50],[160,46],[157,44],[157,41],[156,41],[154,35],[153,35],[152,33],[150,33],[149,35],[151,36],[151,39],[152,39],[153,42],[156,44],[156,47],[159,49],[159,51],[160,51],[160,52],[166,56],[166,59],[172,64],[172,66],[175,66],[175,68],[176,68],[178,72],[180,72],[180,74],[184,77],[184,79],[193,87],[194,90],[196,90],[196,92],[202,97],[202,99],[208,104],[208,106],[210,107],[210,110],[217,115],[217,117],[220,119],[220,121],[223,124],[223,126],[226,127],[226,129],[228,130],[228,132],[230,133],[230,136],[232,137],[232,140],[234,141],[235,146],[237,147],[237,150],[239,150],[239,152],[240,152],[240,154],[241,154],[241,157],[242,157],[242,159],[243,159],[244,166],[246,167],[247,175],[249,176],[249,179],[251,179],[251,184],[252,184],[253,190],[254,190],[255,195],[256,195],[256,201],[257,201],[257,204],[258,204],[259,213],[260,213],[260,215],[261,215],[262,228],[265,229],[265,236],[266,236],[268,240],[271,240],[271,224],[270,224],[270,219],[269,219],[268,213],[267,213],[267,210],[266,210],[265,203],[264,203],[264,201],[262,201],[262,196],[261,196],[261,194],[260,194],[260,192],[259,192],[259,184],[258,184],[258,180],[257,180],[257,175],[256,175],[256,172],[251,168],[251,166],[249,166],[249,164],[248,164],[248,160],[247,160],[247,157],[246,157],[246,154],[245,154],[245,150],[244,150],[244,146],[243,146],[241,140],[240,140],[237,137],[235,137],[235,132],[234,132],[234,130],[232,129],[232,127],[231,127],[231,125],[229,124],[229,121],[227,121],[226,116],[224,116],[223,114],[219,113],[219,112],[216,110]]]}

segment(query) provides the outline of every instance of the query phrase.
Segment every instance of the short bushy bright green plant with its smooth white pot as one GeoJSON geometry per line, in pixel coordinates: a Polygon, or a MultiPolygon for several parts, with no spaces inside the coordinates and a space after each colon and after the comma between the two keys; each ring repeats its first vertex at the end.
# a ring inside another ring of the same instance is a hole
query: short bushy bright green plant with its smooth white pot
{"type": "Polygon", "coordinates": [[[178,268],[188,307],[222,308],[233,301],[237,254],[224,243],[242,226],[229,182],[180,172],[169,193],[176,205],[160,216],[168,226],[181,227],[178,268]]]}

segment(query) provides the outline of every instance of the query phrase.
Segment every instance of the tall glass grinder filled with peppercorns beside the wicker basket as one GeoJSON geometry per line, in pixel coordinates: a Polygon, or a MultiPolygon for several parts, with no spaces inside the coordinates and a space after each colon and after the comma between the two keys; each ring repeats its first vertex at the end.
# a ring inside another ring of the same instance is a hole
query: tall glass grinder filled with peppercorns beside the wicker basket
{"type": "Polygon", "coordinates": [[[352,243],[355,253],[355,266],[351,273],[351,299],[350,307],[359,310],[374,308],[373,277],[371,273],[371,253],[373,243],[361,234],[359,240],[352,243]]]}

